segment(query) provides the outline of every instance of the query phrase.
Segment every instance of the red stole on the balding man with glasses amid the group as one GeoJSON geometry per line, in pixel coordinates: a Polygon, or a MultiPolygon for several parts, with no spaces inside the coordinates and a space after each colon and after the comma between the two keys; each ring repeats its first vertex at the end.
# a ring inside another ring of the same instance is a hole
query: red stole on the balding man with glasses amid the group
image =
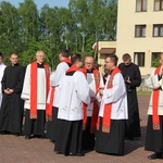
{"type": "MultiPolygon", "coordinates": [[[[86,75],[86,78],[87,78],[87,70],[84,67],[80,71],[84,72],[84,74],[86,75]]],[[[95,78],[95,84],[96,84],[96,96],[97,96],[98,89],[100,88],[100,72],[93,67],[92,73],[93,73],[93,78],[95,78]]],[[[85,110],[87,110],[87,109],[85,109],[85,110]]],[[[97,129],[96,124],[97,124],[97,120],[98,120],[98,114],[99,114],[99,105],[98,105],[97,101],[93,101],[93,110],[92,110],[92,116],[91,116],[91,123],[90,123],[90,133],[95,133],[97,129]]]]}

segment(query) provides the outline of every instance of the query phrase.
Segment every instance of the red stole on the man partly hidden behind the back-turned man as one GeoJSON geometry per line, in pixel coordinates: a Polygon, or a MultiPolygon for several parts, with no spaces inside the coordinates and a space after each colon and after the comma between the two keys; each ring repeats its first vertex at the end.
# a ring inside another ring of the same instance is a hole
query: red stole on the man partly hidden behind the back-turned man
{"type": "MultiPolygon", "coordinates": [[[[62,62],[66,62],[66,63],[70,63],[71,64],[71,60],[68,58],[66,59],[63,59],[61,61],[62,62]]],[[[50,92],[50,102],[47,103],[47,112],[46,112],[46,116],[47,116],[47,120],[48,121],[52,121],[52,103],[53,103],[53,100],[54,100],[54,92],[55,92],[55,87],[51,87],[51,92],[50,92]]]]}

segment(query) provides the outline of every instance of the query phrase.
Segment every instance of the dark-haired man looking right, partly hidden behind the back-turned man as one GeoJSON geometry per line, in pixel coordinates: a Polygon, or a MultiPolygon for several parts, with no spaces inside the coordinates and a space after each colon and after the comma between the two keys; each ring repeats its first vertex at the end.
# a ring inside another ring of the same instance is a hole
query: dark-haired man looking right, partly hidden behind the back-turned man
{"type": "Polygon", "coordinates": [[[58,128],[58,110],[59,110],[59,102],[60,102],[60,83],[62,77],[64,76],[65,72],[70,68],[71,60],[70,58],[70,51],[64,49],[60,52],[60,63],[57,66],[57,70],[54,73],[50,76],[50,85],[51,85],[51,91],[49,92],[48,97],[48,124],[47,124],[47,137],[54,142],[57,138],[57,128],[58,128]]]}

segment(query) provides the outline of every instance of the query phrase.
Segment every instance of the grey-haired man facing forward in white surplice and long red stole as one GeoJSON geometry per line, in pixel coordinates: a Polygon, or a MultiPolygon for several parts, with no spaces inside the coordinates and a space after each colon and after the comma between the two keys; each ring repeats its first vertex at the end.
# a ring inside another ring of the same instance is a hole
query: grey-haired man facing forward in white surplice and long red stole
{"type": "Polygon", "coordinates": [[[37,51],[35,62],[27,65],[22,99],[25,100],[25,138],[42,138],[45,135],[47,97],[50,88],[50,67],[46,54],[37,51]]]}

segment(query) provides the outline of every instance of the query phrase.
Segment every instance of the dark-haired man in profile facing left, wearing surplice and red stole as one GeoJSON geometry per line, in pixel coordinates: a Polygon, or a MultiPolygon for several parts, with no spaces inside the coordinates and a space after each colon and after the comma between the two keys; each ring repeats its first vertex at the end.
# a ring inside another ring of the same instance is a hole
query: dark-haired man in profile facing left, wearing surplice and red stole
{"type": "Polygon", "coordinates": [[[117,57],[105,58],[105,68],[110,71],[104,89],[99,89],[102,101],[99,111],[95,149],[97,152],[124,153],[125,121],[128,118],[126,86],[116,66],[117,57]]]}

